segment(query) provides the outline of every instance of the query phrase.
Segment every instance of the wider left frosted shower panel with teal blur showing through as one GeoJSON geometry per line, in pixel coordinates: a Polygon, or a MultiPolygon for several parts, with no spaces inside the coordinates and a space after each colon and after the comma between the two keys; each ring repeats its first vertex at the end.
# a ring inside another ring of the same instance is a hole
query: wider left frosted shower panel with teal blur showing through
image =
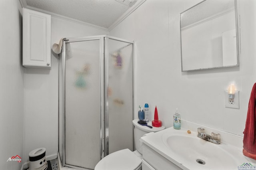
{"type": "Polygon", "coordinates": [[[100,40],[66,44],[66,164],[100,160],[100,40]]]}

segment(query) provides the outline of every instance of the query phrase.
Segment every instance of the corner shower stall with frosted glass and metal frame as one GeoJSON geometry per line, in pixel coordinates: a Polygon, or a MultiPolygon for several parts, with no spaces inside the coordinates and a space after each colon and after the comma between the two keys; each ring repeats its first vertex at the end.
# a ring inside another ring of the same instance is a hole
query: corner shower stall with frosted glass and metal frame
{"type": "Polygon", "coordinates": [[[59,56],[62,166],[94,169],[112,152],[133,150],[134,42],[65,38],[59,56]]]}

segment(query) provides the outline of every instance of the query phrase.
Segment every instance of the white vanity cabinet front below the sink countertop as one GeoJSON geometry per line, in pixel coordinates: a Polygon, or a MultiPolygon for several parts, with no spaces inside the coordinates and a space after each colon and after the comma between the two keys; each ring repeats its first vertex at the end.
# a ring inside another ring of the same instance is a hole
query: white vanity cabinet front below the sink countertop
{"type": "Polygon", "coordinates": [[[143,170],[182,170],[182,168],[164,158],[164,156],[144,143],[142,145],[142,153],[143,170]]]}

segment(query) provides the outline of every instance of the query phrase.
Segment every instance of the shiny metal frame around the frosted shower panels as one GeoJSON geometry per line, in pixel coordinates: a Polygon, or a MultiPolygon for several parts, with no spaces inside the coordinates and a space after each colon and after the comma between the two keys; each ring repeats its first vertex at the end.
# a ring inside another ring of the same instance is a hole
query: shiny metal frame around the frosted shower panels
{"type": "MultiPolygon", "coordinates": [[[[121,38],[116,38],[108,35],[101,36],[86,36],[86,37],[73,37],[73,38],[64,38],[62,42],[62,52],[60,56],[62,57],[62,102],[59,103],[62,106],[62,166],[69,166],[72,168],[76,168],[76,166],[71,166],[66,164],[66,43],[72,42],[82,42],[82,41],[90,41],[90,40],[100,40],[100,159],[104,158],[108,155],[108,40],[117,40],[120,42],[126,42],[132,44],[132,53],[133,53],[133,98],[135,96],[135,88],[134,88],[134,79],[135,79],[135,50],[134,50],[134,41],[128,41],[121,38]]],[[[59,68],[60,70],[60,68],[59,68]]],[[[133,108],[134,111],[135,100],[133,99],[133,108]]],[[[133,115],[134,118],[134,115],[133,115]]],[[[60,130],[59,130],[60,132],[60,130]]],[[[60,140],[60,138],[59,138],[60,140]]]]}

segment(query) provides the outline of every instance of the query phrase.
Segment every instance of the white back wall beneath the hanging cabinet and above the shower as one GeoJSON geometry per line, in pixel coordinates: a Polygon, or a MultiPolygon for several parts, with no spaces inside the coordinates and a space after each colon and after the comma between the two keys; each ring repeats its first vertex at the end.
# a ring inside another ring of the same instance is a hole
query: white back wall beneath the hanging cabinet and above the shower
{"type": "MultiPolygon", "coordinates": [[[[51,44],[66,37],[108,34],[55,17],[51,20],[51,44]]],[[[26,68],[25,72],[24,162],[39,147],[46,148],[46,156],[58,152],[58,55],[54,53],[51,70],[26,68]]]]}

